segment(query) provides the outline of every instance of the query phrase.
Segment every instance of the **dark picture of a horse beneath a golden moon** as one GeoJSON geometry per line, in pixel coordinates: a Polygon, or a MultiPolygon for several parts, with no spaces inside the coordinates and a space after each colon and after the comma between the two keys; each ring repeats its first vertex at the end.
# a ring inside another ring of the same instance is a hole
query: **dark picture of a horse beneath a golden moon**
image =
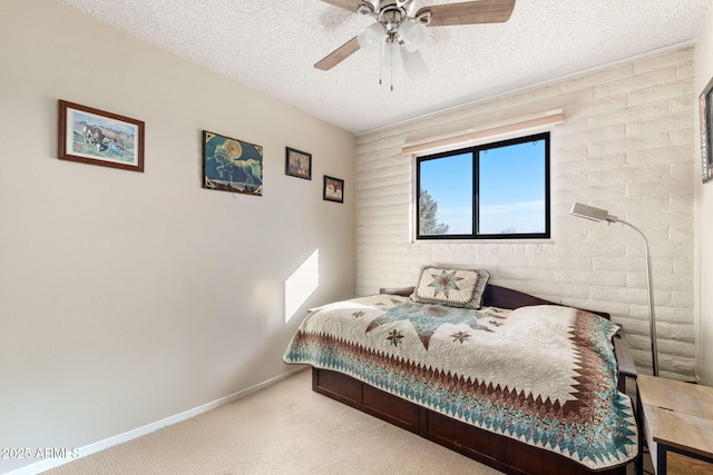
{"type": "Polygon", "coordinates": [[[263,147],[203,131],[203,188],[263,195],[263,147]]]}

